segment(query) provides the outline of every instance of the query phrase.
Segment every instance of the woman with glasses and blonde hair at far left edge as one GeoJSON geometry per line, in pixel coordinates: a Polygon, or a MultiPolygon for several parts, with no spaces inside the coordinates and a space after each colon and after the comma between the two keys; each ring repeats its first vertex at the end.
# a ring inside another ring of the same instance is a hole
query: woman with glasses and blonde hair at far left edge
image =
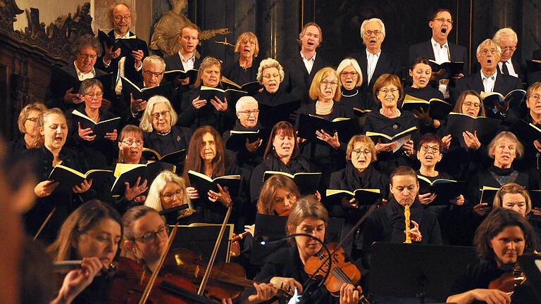
{"type": "Polygon", "coordinates": [[[39,120],[39,115],[42,115],[46,109],[43,103],[35,102],[27,104],[23,110],[20,110],[17,127],[19,128],[19,132],[23,134],[23,137],[6,143],[6,153],[8,156],[20,157],[25,150],[36,148],[39,142],[37,121],[39,120]]]}

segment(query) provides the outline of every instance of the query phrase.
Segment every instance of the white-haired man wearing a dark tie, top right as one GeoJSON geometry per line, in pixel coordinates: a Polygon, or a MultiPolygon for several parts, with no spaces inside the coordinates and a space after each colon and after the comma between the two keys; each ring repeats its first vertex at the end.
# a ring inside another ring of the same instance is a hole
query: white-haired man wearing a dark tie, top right
{"type": "Polygon", "coordinates": [[[518,44],[516,32],[509,27],[504,27],[494,34],[492,40],[502,49],[502,56],[498,63],[499,72],[523,80],[524,75],[520,63],[512,59],[518,44]]]}

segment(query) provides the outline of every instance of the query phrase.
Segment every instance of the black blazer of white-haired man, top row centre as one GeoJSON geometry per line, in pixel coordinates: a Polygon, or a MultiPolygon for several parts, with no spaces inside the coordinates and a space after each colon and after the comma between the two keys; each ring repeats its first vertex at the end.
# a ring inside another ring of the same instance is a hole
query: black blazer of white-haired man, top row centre
{"type": "Polygon", "coordinates": [[[362,49],[359,53],[353,53],[352,58],[361,66],[361,71],[363,72],[363,84],[361,85],[361,90],[363,94],[363,100],[373,103],[374,96],[372,90],[374,88],[375,80],[378,80],[378,77],[385,73],[394,74],[398,77],[401,77],[401,65],[397,57],[389,56],[385,51],[381,50],[380,58],[378,58],[378,63],[375,65],[374,74],[368,83],[368,59],[366,58],[366,49],[362,49]]]}

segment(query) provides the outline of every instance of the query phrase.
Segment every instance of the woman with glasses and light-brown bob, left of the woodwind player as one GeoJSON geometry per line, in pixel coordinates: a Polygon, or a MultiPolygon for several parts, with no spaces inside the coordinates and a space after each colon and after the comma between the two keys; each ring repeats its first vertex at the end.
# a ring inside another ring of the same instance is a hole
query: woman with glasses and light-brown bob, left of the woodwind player
{"type": "MultiPolygon", "coordinates": [[[[377,159],[374,142],[365,135],[355,135],[349,140],[346,148],[346,167],[330,175],[329,189],[355,191],[356,189],[378,189],[382,198],[387,198],[389,192],[389,177],[376,170],[372,163],[377,159]]],[[[349,231],[359,218],[366,212],[365,205],[355,198],[342,197],[339,203],[330,206],[333,217],[344,217],[344,230],[349,231]]],[[[362,231],[362,227],[360,228],[362,231]]],[[[356,258],[356,250],[362,248],[360,234],[352,239],[352,243],[344,244],[347,251],[356,258]],[[353,246],[352,246],[353,244],[353,246]]]]}

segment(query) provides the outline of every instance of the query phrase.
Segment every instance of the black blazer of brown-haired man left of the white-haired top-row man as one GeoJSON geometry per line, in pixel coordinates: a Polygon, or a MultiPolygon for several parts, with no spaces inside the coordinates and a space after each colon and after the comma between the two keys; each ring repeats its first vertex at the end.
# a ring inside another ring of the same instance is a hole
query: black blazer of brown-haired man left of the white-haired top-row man
{"type": "Polygon", "coordinates": [[[321,57],[321,53],[319,53],[316,55],[316,61],[314,61],[312,70],[309,74],[308,70],[306,70],[306,66],[304,66],[301,54],[297,53],[284,63],[285,77],[282,86],[287,93],[297,96],[297,98],[301,99],[304,103],[309,103],[310,97],[308,91],[312,84],[313,77],[318,70],[327,66],[329,66],[329,64],[321,57]]]}

